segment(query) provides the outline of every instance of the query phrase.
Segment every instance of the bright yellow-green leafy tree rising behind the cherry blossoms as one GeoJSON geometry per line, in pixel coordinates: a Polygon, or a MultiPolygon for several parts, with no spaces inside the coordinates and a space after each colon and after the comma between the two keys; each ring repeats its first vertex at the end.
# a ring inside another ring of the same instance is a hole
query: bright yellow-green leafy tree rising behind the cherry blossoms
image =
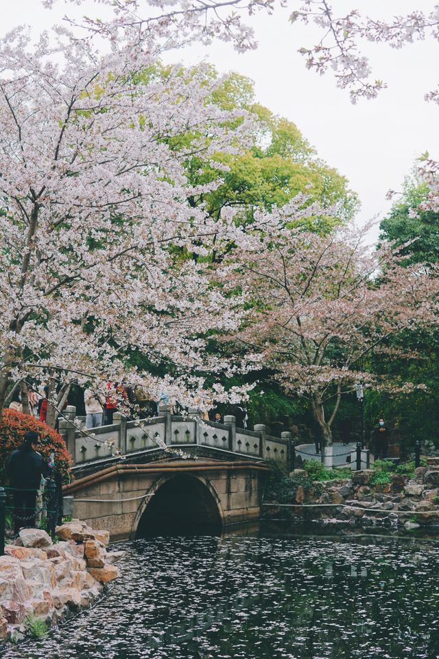
{"type": "MultiPolygon", "coordinates": [[[[215,69],[209,73],[217,78],[215,69]]],[[[311,217],[308,229],[328,233],[346,222],[359,206],[355,193],[348,189],[344,176],[324,163],[303,137],[296,124],[274,115],[255,101],[252,82],[238,73],[230,73],[212,95],[222,109],[246,111],[254,117],[254,139],[244,153],[218,153],[215,160],[226,167],[220,176],[222,185],[193,200],[204,203],[217,218],[225,207],[239,209],[241,221],[251,219],[255,209],[282,207],[297,194],[305,194],[305,205],[318,202],[327,214],[311,217]],[[334,211],[333,207],[337,209],[334,211]]],[[[237,123],[244,121],[239,116],[237,123]]],[[[193,183],[217,180],[215,163],[191,158],[188,165],[193,183]]]]}

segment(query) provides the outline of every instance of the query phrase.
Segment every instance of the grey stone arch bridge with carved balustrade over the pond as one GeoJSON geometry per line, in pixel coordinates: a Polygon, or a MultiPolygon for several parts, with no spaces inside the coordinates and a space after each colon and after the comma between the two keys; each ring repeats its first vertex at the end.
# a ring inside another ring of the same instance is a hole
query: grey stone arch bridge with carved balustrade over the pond
{"type": "Polygon", "coordinates": [[[75,408],[60,419],[73,459],[73,516],[110,531],[113,540],[152,533],[206,531],[261,516],[267,459],[289,461],[291,433],[270,437],[263,425],[236,428],[198,413],[128,421],[119,413],[94,437],[76,429],[75,408]]]}

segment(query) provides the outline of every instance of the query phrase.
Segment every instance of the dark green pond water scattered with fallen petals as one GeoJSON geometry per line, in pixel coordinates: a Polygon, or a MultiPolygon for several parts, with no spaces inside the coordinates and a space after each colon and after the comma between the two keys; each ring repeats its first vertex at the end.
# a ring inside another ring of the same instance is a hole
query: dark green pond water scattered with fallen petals
{"type": "Polygon", "coordinates": [[[3,657],[439,657],[438,541],[254,531],[119,547],[103,601],[3,657]]]}

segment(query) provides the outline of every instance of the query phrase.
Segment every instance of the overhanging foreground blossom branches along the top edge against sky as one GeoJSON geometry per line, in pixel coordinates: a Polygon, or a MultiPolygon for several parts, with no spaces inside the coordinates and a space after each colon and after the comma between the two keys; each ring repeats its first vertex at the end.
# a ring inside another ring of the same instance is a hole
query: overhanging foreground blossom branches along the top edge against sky
{"type": "MultiPolygon", "coordinates": [[[[57,0],[43,0],[51,7],[57,0]]],[[[91,0],[70,0],[75,5],[90,7],[91,0]]],[[[257,47],[257,35],[246,17],[255,12],[271,14],[274,0],[95,0],[95,5],[108,10],[106,19],[88,17],[82,21],[66,19],[72,28],[80,27],[82,38],[93,41],[106,38],[113,49],[129,52],[135,47],[156,52],[180,47],[194,38],[211,43],[214,38],[229,42],[239,51],[257,47]]],[[[401,49],[414,41],[439,41],[439,5],[426,0],[423,8],[414,3],[413,10],[390,20],[369,16],[353,7],[346,11],[340,0],[279,0],[291,12],[292,23],[305,26],[298,43],[307,68],[320,75],[332,72],[337,86],[349,91],[351,101],[372,99],[387,86],[387,81],[372,71],[364,42],[387,44],[401,49]],[[313,30],[309,27],[312,26],[313,30]],[[316,28],[320,38],[316,41],[316,28]],[[312,34],[312,42],[307,39],[312,34]]],[[[364,3],[368,7],[367,3],[364,3]]],[[[367,10],[368,11],[368,8],[367,10]]],[[[296,33],[298,34],[298,33],[296,33]]],[[[439,103],[439,89],[427,90],[425,99],[439,103]]],[[[424,154],[418,167],[420,176],[431,190],[422,210],[439,209],[439,163],[424,154]]]]}

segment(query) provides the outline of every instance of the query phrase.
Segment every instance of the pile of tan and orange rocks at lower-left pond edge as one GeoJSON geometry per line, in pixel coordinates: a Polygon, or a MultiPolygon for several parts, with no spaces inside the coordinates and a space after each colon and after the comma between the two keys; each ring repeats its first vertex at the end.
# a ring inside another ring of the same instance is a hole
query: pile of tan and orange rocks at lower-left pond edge
{"type": "Polygon", "coordinates": [[[0,557],[0,638],[21,638],[29,618],[47,626],[88,608],[119,576],[121,552],[107,552],[108,531],[80,520],[57,527],[55,544],[41,529],[21,529],[0,557]]]}

